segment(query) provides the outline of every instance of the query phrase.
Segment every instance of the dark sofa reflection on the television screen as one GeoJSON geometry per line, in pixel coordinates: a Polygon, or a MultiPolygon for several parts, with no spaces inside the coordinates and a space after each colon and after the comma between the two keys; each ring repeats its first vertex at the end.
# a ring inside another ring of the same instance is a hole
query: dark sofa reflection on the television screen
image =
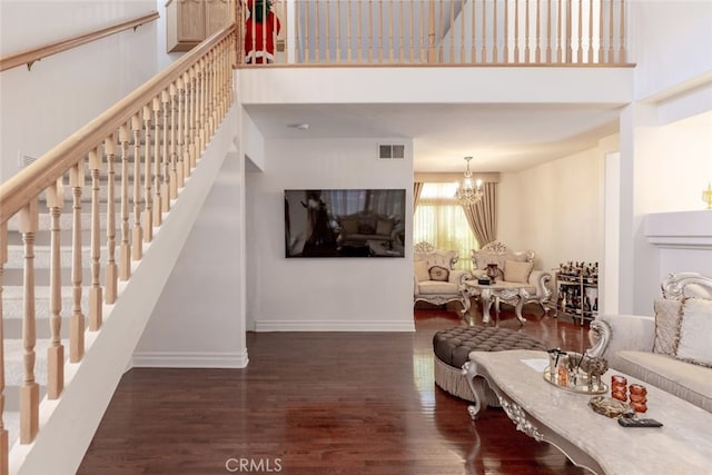
{"type": "Polygon", "coordinates": [[[336,216],[337,243],[339,246],[364,247],[370,241],[383,241],[389,246],[398,243],[400,219],[373,211],[358,211],[336,216]]]}

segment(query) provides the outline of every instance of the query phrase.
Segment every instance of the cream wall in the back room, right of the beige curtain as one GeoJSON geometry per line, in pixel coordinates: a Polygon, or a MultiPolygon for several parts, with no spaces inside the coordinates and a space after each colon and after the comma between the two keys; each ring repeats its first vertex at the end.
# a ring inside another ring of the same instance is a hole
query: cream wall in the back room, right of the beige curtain
{"type": "Polygon", "coordinates": [[[617,136],[597,147],[523,170],[498,185],[500,240],[533,249],[536,268],[603,260],[603,164],[617,136]]]}

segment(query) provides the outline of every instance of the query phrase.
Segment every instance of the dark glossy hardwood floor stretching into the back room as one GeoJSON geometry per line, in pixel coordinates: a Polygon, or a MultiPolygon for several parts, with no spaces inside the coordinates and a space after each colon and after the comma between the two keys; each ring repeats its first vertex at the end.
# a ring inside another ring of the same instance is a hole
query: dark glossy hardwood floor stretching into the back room
{"type": "MultiPolygon", "coordinates": [[[[433,335],[464,324],[419,308],[414,334],[249,333],[245,369],[131,369],[78,473],[583,474],[503,410],[474,423],[435,386],[433,335]]],[[[589,346],[587,327],[525,310],[523,327],[511,309],[498,325],[589,346]]]]}

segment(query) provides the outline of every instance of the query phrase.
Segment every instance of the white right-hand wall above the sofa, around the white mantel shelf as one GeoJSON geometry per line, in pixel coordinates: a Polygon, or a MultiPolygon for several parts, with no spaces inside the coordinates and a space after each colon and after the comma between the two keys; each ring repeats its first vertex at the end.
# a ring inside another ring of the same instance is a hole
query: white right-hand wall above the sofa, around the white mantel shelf
{"type": "MultiPolygon", "coordinates": [[[[663,264],[645,215],[700,209],[711,177],[712,2],[634,1],[630,23],[637,101],[621,116],[619,311],[651,315],[663,264]]],[[[700,271],[691,261],[678,271],[700,271]]]]}

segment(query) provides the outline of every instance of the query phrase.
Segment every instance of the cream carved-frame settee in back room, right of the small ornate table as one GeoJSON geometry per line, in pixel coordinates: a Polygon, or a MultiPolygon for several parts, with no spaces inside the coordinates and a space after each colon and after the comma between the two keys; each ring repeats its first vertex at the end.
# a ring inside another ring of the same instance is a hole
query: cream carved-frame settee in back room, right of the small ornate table
{"type": "Polygon", "coordinates": [[[524,304],[535,301],[544,313],[548,313],[546,303],[552,291],[546,283],[552,279],[552,275],[534,269],[533,250],[512,250],[498,240],[493,240],[482,249],[472,251],[473,278],[486,276],[487,265],[491,264],[497,265],[496,281],[517,283],[528,296],[524,298],[524,304]]]}

